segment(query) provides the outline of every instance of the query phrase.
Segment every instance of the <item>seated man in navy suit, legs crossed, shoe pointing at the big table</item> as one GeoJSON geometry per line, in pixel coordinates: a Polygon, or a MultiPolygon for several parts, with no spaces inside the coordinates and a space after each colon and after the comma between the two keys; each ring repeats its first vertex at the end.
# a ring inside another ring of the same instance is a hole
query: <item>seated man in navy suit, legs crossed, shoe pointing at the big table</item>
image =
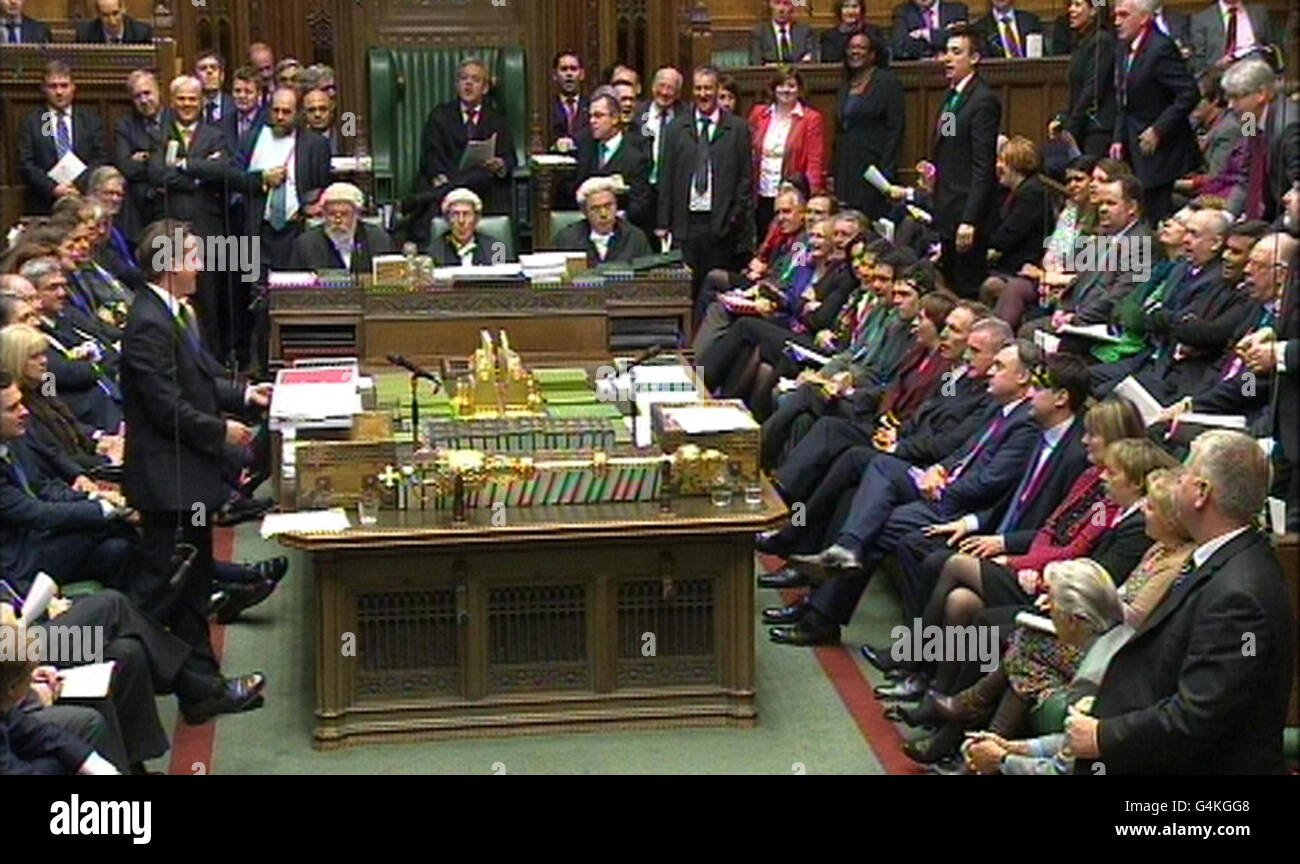
{"type": "Polygon", "coordinates": [[[835,543],[816,555],[790,556],[792,565],[822,585],[797,626],[770,633],[774,642],[838,642],[840,626],[853,617],[876,565],[904,535],[982,511],[1015,489],[1041,435],[1030,405],[1040,362],[1041,353],[1024,339],[998,352],[988,379],[994,404],[982,429],[944,460],[924,470],[896,456],[871,460],[835,543]]]}

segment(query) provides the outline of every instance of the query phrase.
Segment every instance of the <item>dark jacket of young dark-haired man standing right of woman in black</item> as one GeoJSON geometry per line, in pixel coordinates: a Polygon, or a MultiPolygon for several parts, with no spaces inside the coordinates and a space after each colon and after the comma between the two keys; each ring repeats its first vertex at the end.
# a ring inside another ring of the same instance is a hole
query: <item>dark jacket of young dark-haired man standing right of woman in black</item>
{"type": "Polygon", "coordinates": [[[952,236],[957,226],[974,225],[987,230],[996,207],[997,130],[1002,105],[997,94],[976,74],[954,112],[950,135],[940,134],[942,112],[931,127],[931,160],[939,169],[935,183],[935,229],[952,236]]]}

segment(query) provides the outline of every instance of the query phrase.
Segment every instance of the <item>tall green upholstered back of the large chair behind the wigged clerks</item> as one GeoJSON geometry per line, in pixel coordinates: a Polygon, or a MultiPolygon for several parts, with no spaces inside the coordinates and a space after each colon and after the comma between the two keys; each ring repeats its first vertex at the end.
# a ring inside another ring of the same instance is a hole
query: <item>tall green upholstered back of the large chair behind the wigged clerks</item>
{"type": "Polygon", "coordinates": [[[465,57],[481,57],[491,70],[489,100],[506,114],[515,159],[528,164],[528,71],[524,49],[370,48],[370,155],[380,197],[410,195],[420,173],[420,134],[429,112],[456,96],[456,74],[465,57]]]}

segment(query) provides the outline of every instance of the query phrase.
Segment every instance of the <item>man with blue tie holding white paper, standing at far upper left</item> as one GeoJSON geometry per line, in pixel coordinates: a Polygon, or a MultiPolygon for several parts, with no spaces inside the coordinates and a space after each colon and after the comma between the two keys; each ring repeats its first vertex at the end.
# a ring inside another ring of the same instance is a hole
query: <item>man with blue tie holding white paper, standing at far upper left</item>
{"type": "Polygon", "coordinates": [[[77,84],[61,60],[46,65],[42,90],[46,107],[27,114],[18,129],[18,175],[27,186],[27,213],[48,213],[55,199],[75,195],[70,182],[56,183],[48,173],[66,153],[74,153],[90,169],[108,161],[104,123],[94,108],[74,107],[77,84]]]}

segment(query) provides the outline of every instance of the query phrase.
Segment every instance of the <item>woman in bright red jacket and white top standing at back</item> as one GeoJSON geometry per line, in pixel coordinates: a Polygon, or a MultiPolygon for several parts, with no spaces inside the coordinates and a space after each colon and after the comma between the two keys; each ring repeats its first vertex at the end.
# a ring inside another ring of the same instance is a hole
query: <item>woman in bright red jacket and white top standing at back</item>
{"type": "Polygon", "coordinates": [[[826,126],[822,112],[803,101],[803,75],[793,66],[777,66],[767,94],[770,101],[749,112],[758,236],[767,235],[783,182],[803,178],[797,184],[809,194],[826,190],[826,126]]]}

